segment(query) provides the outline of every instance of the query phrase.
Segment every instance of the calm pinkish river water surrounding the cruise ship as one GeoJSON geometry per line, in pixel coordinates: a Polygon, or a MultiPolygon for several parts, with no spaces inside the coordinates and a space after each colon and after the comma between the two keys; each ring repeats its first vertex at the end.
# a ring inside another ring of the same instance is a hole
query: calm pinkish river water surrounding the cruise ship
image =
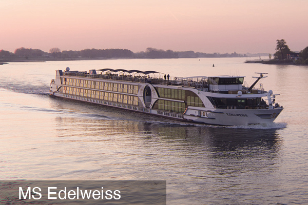
{"type": "Polygon", "coordinates": [[[0,66],[0,179],[167,180],[167,204],[308,204],[308,67],[245,58],[118,59],[0,66]],[[215,67],[212,67],[215,64],[215,67]],[[267,72],[274,124],[218,127],[48,95],[55,70],[171,76],[267,72]]]}

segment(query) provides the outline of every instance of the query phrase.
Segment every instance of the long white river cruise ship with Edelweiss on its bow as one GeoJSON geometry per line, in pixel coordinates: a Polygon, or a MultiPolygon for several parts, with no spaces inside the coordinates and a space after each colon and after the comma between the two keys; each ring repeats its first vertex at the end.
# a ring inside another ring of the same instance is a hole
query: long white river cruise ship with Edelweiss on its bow
{"type": "Polygon", "coordinates": [[[244,76],[169,77],[156,71],[124,69],[57,70],[50,95],[142,112],[175,120],[238,126],[272,123],[282,106],[272,90],[256,77],[245,86],[244,76]]]}

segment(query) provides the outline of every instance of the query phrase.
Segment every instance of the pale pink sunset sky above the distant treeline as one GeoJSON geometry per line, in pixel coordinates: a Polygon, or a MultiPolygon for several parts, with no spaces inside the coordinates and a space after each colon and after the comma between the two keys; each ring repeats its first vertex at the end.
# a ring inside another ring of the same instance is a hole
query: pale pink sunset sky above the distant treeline
{"type": "Polygon", "coordinates": [[[300,51],[307,19],[307,0],[1,0],[0,50],[300,51]]]}

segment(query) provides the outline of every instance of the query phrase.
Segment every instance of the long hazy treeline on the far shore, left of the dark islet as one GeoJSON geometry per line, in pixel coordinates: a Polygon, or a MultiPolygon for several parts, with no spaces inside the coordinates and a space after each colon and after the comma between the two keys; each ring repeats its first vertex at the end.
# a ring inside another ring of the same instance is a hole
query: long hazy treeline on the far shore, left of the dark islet
{"type": "Polygon", "coordinates": [[[0,50],[0,63],[4,62],[44,62],[59,60],[104,60],[104,59],[158,59],[158,58],[220,58],[267,56],[268,53],[238,54],[202,53],[194,51],[172,51],[147,48],[146,51],[132,52],[128,49],[85,49],[80,51],[61,51],[50,49],[49,53],[40,49],[18,48],[14,53],[0,50]]]}

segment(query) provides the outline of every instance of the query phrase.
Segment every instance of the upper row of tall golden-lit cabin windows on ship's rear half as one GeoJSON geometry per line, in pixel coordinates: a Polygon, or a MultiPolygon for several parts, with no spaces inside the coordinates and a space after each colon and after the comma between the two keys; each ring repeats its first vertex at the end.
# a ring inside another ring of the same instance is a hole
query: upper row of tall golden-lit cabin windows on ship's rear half
{"type": "Polygon", "coordinates": [[[92,88],[98,90],[108,90],[121,93],[130,93],[138,94],[138,86],[120,84],[120,83],[108,83],[95,80],[83,80],[83,79],[74,79],[74,78],[64,78],[63,85],[67,86],[76,86],[83,88],[92,88]]]}

